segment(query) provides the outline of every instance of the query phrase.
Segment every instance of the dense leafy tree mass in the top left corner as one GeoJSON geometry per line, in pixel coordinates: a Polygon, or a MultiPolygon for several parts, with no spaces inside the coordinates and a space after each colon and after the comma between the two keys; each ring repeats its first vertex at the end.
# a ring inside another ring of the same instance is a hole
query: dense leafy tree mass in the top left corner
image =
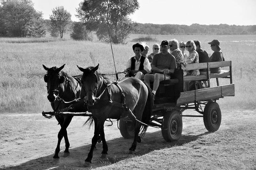
{"type": "Polygon", "coordinates": [[[31,0],[1,0],[0,34],[2,36],[44,36],[42,13],[34,9],[31,0]],[[40,32],[35,27],[40,27],[40,32]]]}

